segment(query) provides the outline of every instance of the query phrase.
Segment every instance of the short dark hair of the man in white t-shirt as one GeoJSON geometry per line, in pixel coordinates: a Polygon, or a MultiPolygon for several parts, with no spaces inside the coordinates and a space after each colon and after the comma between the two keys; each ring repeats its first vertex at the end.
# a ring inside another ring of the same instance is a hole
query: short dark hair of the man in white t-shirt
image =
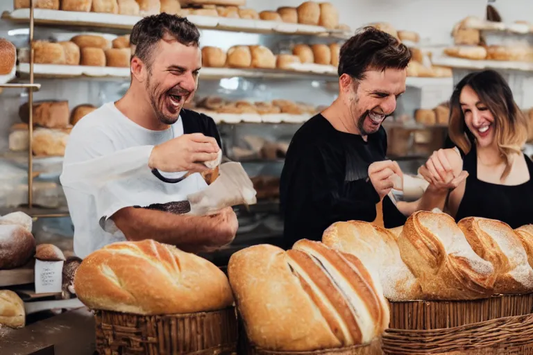
{"type": "Polygon", "coordinates": [[[133,26],[130,44],[135,46],[135,53],[140,60],[151,65],[151,57],[155,44],[165,35],[174,37],[185,46],[199,46],[200,31],[185,17],[169,15],[165,12],[159,15],[144,17],[133,26]]]}

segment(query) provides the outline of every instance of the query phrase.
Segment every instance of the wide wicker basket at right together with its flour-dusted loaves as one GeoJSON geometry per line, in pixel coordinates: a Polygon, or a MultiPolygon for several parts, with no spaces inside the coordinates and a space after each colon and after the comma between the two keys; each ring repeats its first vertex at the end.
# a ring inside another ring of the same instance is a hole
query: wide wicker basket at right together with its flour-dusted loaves
{"type": "Polygon", "coordinates": [[[323,243],[379,275],[384,354],[533,354],[533,225],[418,211],[393,230],[335,223],[323,243]]]}

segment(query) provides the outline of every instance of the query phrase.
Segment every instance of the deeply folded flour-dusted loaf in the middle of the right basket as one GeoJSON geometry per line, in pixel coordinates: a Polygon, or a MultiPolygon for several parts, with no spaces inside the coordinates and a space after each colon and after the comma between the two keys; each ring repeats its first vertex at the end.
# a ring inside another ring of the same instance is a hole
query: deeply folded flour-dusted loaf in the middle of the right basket
{"type": "Polygon", "coordinates": [[[493,294],[495,268],[474,252],[448,214],[414,212],[398,247],[420,282],[424,300],[474,300],[493,294]]]}

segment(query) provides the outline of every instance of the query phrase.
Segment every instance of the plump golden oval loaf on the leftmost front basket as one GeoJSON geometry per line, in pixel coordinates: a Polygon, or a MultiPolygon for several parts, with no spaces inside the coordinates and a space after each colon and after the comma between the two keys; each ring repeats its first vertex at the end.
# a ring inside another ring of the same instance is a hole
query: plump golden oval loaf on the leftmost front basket
{"type": "Polygon", "coordinates": [[[141,315],[216,311],[233,304],[228,278],[210,261],[151,239],[105,245],[74,277],[90,309],[141,315]]]}

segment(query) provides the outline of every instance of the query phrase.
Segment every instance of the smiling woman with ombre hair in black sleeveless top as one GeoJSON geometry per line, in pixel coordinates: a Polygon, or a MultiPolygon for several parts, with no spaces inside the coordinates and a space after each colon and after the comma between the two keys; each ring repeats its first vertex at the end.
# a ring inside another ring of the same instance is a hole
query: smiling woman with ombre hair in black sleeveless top
{"type": "Polygon", "coordinates": [[[521,152],[527,121],[505,79],[491,70],[468,74],[450,106],[450,146],[462,159],[454,148],[441,149],[422,166],[430,187],[418,209],[446,208],[457,221],[484,217],[513,228],[533,223],[533,162],[521,152]]]}

